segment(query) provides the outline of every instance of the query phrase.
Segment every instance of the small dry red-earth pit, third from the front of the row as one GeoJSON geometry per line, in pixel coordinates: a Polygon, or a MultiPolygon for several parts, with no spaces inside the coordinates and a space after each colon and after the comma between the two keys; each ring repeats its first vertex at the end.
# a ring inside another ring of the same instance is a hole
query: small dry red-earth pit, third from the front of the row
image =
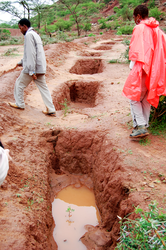
{"type": "Polygon", "coordinates": [[[69,70],[70,73],[83,74],[98,74],[103,72],[103,62],[101,59],[81,59],[69,70]]]}

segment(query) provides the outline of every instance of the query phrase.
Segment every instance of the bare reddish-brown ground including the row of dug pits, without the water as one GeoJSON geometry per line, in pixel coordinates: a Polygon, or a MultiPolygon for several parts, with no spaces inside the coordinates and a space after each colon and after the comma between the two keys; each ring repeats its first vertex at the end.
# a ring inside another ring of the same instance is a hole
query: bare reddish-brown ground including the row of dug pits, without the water
{"type": "Polygon", "coordinates": [[[0,136],[12,157],[0,188],[0,249],[57,249],[51,202],[71,184],[94,190],[101,215],[81,238],[87,249],[114,249],[117,215],[134,206],[147,209],[157,200],[165,209],[165,138],[130,141],[130,107],[121,95],[129,68],[108,63],[125,51],[124,38],[110,32],[45,46],[56,117],[42,114],[34,83],[25,90],[24,111],[8,106],[23,48],[8,61],[0,57],[0,136]]]}

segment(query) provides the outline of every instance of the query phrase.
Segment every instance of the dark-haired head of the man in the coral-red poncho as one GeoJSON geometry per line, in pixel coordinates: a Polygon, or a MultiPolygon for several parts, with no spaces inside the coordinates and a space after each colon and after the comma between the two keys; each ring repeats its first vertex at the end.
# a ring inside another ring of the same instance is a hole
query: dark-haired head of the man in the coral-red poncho
{"type": "Polygon", "coordinates": [[[148,8],[145,5],[138,5],[133,12],[133,18],[136,24],[139,24],[142,19],[148,18],[148,8]]]}

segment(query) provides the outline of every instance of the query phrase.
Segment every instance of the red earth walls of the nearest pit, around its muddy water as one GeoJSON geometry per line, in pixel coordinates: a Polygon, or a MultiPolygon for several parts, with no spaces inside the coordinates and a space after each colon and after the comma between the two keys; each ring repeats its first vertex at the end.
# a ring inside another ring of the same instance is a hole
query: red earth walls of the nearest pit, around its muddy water
{"type": "Polygon", "coordinates": [[[101,222],[98,226],[86,226],[81,241],[87,249],[114,249],[119,235],[117,215],[123,217],[133,207],[128,200],[121,159],[107,132],[52,130],[47,133],[47,141],[54,142],[54,153],[49,156],[51,200],[69,185],[93,189],[101,222]]]}

